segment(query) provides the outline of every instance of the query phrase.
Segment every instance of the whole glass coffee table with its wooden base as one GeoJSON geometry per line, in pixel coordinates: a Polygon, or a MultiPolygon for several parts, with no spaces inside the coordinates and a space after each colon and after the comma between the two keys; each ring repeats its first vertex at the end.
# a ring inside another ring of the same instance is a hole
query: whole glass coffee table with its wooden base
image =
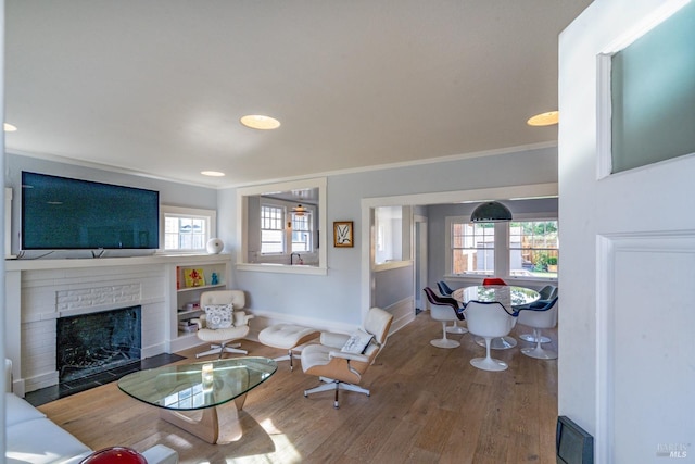
{"type": "Polygon", "coordinates": [[[118,388],[208,443],[228,443],[241,438],[238,414],[247,393],[277,368],[271,359],[254,356],[168,365],[128,374],[118,388]]]}

